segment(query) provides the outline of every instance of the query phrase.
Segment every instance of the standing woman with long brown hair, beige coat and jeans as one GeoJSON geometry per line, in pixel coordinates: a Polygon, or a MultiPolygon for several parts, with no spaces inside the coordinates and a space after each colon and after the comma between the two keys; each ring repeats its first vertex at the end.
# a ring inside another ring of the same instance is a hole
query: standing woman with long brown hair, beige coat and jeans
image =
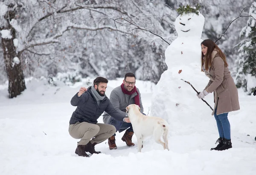
{"type": "MultiPolygon", "coordinates": [[[[230,122],[228,112],[240,109],[236,84],[230,75],[226,56],[221,49],[210,39],[201,43],[201,71],[209,77],[209,83],[198,98],[204,98],[214,92],[214,115],[218,127],[218,145],[211,150],[225,150],[232,148],[230,136],[230,122]]],[[[216,144],[215,143],[215,144],[216,144]]]]}

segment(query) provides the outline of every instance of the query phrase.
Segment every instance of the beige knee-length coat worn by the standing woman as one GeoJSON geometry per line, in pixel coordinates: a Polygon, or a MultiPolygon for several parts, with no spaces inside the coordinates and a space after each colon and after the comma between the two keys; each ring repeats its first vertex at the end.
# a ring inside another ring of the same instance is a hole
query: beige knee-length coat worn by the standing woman
{"type": "Polygon", "coordinates": [[[224,61],[218,54],[217,50],[212,51],[212,65],[205,75],[210,78],[205,87],[210,93],[214,91],[214,109],[212,115],[223,114],[226,112],[240,109],[238,92],[236,84],[230,75],[227,67],[224,67],[224,61]]]}

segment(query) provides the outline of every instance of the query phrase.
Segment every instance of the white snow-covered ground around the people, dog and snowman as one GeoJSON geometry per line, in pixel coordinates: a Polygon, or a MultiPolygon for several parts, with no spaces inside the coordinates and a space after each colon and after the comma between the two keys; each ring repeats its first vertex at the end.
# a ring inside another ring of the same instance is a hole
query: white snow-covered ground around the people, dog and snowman
{"type": "MultiPolygon", "coordinates": [[[[109,150],[104,141],[96,145],[96,151],[102,154],[90,158],[77,156],[77,140],[68,133],[70,116],[75,110],[70,100],[81,86],[89,86],[87,81],[83,79],[72,87],[54,87],[45,80],[32,79],[26,82],[23,94],[14,99],[8,98],[7,85],[0,85],[0,175],[256,174],[256,97],[247,96],[240,89],[241,110],[229,114],[232,149],[209,150],[218,138],[215,119],[209,107],[195,95],[195,105],[209,110],[209,115],[203,123],[196,120],[192,132],[186,127],[183,132],[171,128],[170,151],[148,138],[142,153],[137,153],[136,137],[133,137],[135,146],[127,147],[121,141],[122,132],[116,135],[118,149],[109,150]]],[[[109,97],[111,90],[121,83],[122,78],[111,80],[106,95],[109,97]]],[[[137,80],[136,86],[142,93],[144,113],[148,114],[155,85],[137,80]]],[[[191,93],[195,93],[192,88],[191,93]]],[[[212,98],[210,95],[206,98],[211,106],[212,98]]],[[[98,122],[103,123],[102,117],[98,122]]]]}

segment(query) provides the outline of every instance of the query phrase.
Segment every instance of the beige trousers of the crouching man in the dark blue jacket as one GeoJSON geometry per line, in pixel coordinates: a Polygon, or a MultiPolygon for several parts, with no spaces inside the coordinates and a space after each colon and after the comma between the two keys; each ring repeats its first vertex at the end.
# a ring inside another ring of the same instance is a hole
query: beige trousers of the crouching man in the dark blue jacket
{"type": "Polygon", "coordinates": [[[77,122],[69,126],[68,132],[71,137],[81,139],[77,145],[86,145],[92,138],[92,144],[107,140],[116,132],[116,128],[104,123],[77,122]]]}

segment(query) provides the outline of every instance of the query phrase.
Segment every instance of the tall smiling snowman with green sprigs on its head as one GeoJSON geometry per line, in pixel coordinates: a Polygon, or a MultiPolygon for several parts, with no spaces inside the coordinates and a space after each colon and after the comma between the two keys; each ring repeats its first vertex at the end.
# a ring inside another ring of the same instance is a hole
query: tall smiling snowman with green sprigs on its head
{"type": "Polygon", "coordinates": [[[186,127],[188,131],[196,127],[193,123],[205,120],[197,118],[197,113],[207,108],[204,102],[198,102],[201,99],[198,99],[192,87],[180,79],[189,81],[198,91],[203,90],[209,81],[201,72],[204,16],[199,11],[195,13],[194,7],[185,8],[191,8],[190,11],[194,12],[181,13],[175,20],[178,37],[166,49],[165,62],[168,69],[156,85],[150,108],[150,115],[164,118],[172,130],[180,132],[180,126],[186,127]]]}

